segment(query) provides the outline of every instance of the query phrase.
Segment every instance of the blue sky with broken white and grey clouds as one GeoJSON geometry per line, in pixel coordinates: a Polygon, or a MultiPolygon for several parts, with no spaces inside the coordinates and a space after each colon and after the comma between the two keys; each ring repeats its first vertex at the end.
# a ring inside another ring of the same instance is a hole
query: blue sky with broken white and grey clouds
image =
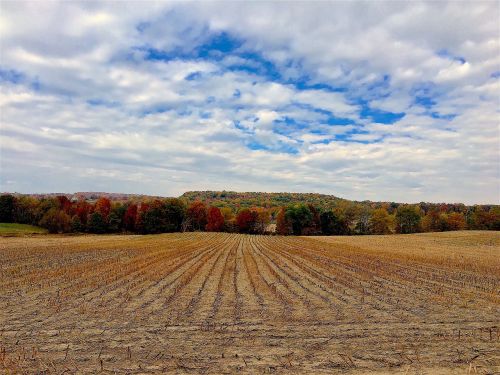
{"type": "Polygon", "coordinates": [[[500,3],[0,3],[0,191],[500,202],[500,3]]]}

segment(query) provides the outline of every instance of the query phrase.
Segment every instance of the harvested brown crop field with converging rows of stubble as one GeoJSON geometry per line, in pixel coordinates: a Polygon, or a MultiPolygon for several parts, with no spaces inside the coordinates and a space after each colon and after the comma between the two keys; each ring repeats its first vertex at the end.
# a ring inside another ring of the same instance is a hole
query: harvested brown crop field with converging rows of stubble
{"type": "Polygon", "coordinates": [[[500,233],[0,238],[6,373],[500,373],[500,233]]]}

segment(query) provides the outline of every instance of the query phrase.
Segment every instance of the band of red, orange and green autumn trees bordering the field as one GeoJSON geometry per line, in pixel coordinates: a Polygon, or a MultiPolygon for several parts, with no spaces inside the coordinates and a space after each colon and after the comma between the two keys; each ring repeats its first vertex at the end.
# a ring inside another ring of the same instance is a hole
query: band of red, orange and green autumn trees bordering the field
{"type": "Polygon", "coordinates": [[[333,208],[291,203],[273,207],[215,206],[184,198],[88,201],[0,196],[0,222],[38,225],[50,233],[185,231],[281,235],[353,235],[500,230],[500,206],[420,203],[372,207],[339,200],[333,208]]]}

